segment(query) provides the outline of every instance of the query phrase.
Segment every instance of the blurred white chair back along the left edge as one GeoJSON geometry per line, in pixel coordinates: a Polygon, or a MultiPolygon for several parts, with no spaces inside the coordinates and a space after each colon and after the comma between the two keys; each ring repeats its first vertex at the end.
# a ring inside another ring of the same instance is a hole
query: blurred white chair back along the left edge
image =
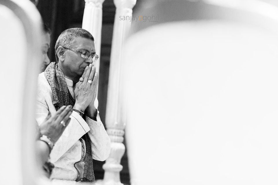
{"type": "Polygon", "coordinates": [[[34,102],[41,19],[29,0],[0,1],[1,183],[35,184],[34,102]]]}

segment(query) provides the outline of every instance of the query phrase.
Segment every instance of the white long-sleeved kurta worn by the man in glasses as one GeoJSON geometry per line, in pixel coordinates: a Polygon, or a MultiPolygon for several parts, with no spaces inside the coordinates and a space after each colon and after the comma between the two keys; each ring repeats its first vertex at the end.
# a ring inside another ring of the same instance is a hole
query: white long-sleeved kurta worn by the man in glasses
{"type": "MultiPolygon", "coordinates": [[[[66,79],[69,92],[74,98],[73,82],[66,79]]],[[[39,125],[44,121],[48,112],[52,115],[56,109],[52,103],[52,91],[44,72],[38,77],[38,95],[36,101],[36,121],[39,125]]],[[[94,102],[98,106],[98,101],[94,102]]],[[[74,167],[74,163],[81,160],[82,143],[79,140],[88,132],[92,141],[93,159],[104,161],[110,153],[110,138],[106,133],[103,123],[97,115],[94,121],[86,116],[86,121],[76,112],[72,112],[71,121],[62,136],[54,145],[50,153],[50,161],[54,163],[55,168],[52,171],[52,179],[75,181],[78,172],[74,167]]],[[[83,140],[85,145],[85,141],[83,140]]],[[[83,166],[84,167],[84,166],[83,166]]]]}

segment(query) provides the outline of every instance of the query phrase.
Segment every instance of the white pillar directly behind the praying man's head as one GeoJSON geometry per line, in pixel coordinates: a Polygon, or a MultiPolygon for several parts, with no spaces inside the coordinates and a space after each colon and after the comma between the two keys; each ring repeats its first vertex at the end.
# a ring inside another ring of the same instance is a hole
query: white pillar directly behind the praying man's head
{"type": "MultiPolygon", "coordinates": [[[[85,0],[82,28],[89,31],[95,39],[96,54],[100,56],[101,27],[102,27],[102,3],[105,0],[85,0]]],[[[95,63],[96,71],[99,71],[99,62],[95,63]]]]}

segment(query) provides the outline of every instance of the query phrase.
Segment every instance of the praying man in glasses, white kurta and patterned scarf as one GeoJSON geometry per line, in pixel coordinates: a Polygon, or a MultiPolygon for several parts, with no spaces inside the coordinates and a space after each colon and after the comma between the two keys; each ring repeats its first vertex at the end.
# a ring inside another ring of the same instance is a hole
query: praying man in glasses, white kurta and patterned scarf
{"type": "MultiPolygon", "coordinates": [[[[71,120],[50,153],[52,181],[95,182],[92,160],[104,161],[110,139],[100,120],[96,99],[98,60],[94,37],[85,29],[63,31],[55,45],[56,62],[38,77],[36,120],[43,122],[62,106],[72,105],[71,120]]],[[[63,125],[63,123],[61,122],[63,125]]]]}

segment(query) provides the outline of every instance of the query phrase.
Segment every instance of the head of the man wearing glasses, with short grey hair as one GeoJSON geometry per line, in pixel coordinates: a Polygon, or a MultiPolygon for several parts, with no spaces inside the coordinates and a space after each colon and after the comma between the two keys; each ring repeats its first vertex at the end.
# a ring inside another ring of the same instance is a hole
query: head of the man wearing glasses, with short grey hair
{"type": "Polygon", "coordinates": [[[82,28],[63,31],[56,41],[55,51],[58,67],[74,82],[78,82],[85,67],[97,59],[94,37],[82,28]]]}

